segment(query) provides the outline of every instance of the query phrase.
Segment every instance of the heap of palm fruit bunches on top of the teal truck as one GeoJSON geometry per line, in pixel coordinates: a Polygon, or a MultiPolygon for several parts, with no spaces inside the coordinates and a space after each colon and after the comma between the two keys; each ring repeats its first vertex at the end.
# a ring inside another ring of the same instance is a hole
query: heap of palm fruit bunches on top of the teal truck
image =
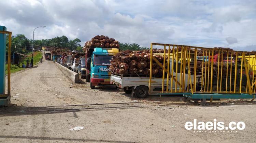
{"type": "Polygon", "coordinates": [[[86,51],[90,47],[119,48],[119,42],[108,36],[97,35],[85,43],[83,50],[86,51]]]}

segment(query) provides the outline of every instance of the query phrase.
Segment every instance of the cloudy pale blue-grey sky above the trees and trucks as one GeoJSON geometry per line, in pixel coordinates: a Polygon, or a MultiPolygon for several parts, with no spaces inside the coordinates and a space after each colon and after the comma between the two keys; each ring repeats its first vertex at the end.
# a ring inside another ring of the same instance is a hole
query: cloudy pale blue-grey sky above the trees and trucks
{"type": "Polygon", "coordinates": [[[0,25],[35,39],[95,35],[151,42],[256,50],[255,0],[1,0],[0,25]]]}

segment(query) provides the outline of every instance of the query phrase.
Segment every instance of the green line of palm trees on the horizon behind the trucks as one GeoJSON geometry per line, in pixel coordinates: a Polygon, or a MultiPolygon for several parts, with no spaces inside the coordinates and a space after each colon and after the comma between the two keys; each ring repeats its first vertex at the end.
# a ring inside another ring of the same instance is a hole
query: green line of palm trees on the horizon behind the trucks
{"type": "MultiPolygon", "coordinates": [[[[7,35],[8,37],[8,35],[7,35]]],[[[6,47],[8,46],[8,38],[6,38],[6,47]]],[[[16,36],[12,36],[12,51],[24,53],[26,52],[29,47],[32,47],[32,39],[26,38],[23,34],[17,34],[16,36]]],[[[79,38],[75,38],[74,40],[68,39],[67,36],[56,36],[51,39],[41,39],[41,40],[34,40],[34,48],[41,48],[44,47],[58,47],[58,48],[68,48],[71,51],[77,50],[82,51],[81,40],[79,38]]],[[[141,47],[137,43],[119,43],[120,50],[145,50],[148,49],[147,47],[141,47]]]]}

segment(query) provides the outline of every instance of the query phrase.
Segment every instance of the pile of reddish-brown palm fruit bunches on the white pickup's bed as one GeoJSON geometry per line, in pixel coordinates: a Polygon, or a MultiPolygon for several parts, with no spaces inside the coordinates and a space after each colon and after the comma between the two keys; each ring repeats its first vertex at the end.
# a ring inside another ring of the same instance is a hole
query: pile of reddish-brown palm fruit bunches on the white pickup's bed
{"type": "MultiPolygon", "coordinates": [[[[163,56],[153,55],[161,64],[163,64],[163,56]]],[[[166,58],[167,59],[167,58],[166,58]]],[[[167,64],[166,64],[167,65],[167,64]]],[[[167,67],[167,66],[166,66],[167,67]]],[[[162,68],[153,61],[152,75],[161,75],[162,68]]],[[[149,75],[150,74],[150,53],[143,51],[125,50],[117,53],[111,60],[110,70],[114,74],[135,74],[149,75]]]]}

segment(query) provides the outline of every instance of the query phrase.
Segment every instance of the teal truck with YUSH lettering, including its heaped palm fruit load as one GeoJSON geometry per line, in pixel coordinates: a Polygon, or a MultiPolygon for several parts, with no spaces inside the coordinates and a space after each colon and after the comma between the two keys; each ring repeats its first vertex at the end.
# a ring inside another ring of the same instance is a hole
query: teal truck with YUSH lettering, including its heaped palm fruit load
{"type": "Polygon", "coordinates": [[[90,88],[99,85],[110,85],[110,61],[113,55],[119,52],[119,44],[108,36],[95,36],[85,43],[86,82],[90,82],[90,88]]]}

